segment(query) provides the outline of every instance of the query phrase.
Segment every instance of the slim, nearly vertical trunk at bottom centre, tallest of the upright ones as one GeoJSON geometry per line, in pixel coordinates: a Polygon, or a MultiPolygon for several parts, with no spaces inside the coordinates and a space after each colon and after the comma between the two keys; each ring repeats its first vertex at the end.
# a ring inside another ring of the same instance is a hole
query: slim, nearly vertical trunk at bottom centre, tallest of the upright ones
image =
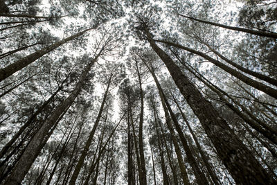
{"type": "Polygon", "coordinates": [[[139,78],[139,94],[141,96],[141,112],[139,114],[139,155],[141,159],[141,185],[147,184],[146,179],[146,168],[145,168],[145,158],[143,152],[143,87],[141,82],[141,73],[139,71],[138,62],[136,61],[136,73],[138,74],[139,78]]]}

